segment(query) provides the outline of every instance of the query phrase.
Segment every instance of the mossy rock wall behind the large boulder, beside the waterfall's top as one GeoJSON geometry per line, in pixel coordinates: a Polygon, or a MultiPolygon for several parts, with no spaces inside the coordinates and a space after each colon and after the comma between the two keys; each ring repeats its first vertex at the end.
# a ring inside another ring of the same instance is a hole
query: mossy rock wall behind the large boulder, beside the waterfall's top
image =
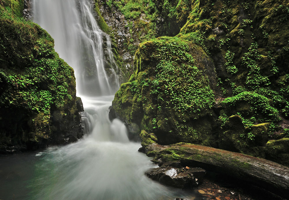
{"type": "Polygon", "coordinates": [[[128,37],[123,42],[133,55],[139,42],[160,36],[175,36],[186,23],[190,0],[109,0],[101,1],[105,9],[121,12],[127,20],[128,37]],[[137,44],[137,45],[136,45],[137,44]]]}

